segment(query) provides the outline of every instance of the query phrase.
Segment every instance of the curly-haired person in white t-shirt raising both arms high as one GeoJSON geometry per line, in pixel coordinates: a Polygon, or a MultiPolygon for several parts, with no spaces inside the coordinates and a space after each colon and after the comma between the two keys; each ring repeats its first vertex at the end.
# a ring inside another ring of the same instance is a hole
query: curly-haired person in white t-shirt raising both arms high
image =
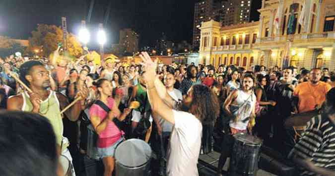
{"type": "Polygon", "coordinates": [[[171,103],[174,100],[156,77],[156,62],[153,62],[146,52],[140,57],[146,67],[144,80],[152,111],[173,124],[167,157],[167,175],[198,176],[197,163],[200,154],[202,124],[213,123],[218,116],[217,98],[208,87],[194,85],[183,101],[188,110],[186,112],[173,110],[164,103],[164,101],[171,103]]]}

